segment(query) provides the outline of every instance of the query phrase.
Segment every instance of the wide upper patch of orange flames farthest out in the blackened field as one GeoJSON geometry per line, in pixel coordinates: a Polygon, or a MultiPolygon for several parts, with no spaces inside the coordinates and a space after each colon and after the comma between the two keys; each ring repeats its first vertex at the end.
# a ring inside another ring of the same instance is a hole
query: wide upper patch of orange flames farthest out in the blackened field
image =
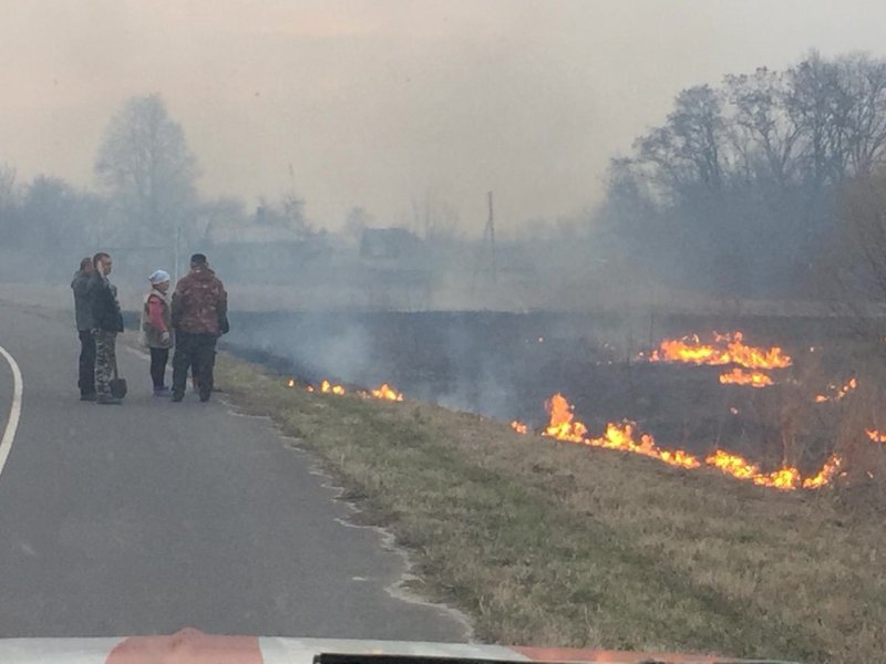
{"type": "Polygon", "coordinates": [[[718,334],[714,343],[703,344],[698,335],[682,339],[666,339],[649,356],[650,362],[687,362],[690,364],[738,364],[745,369],[786,369],[791,357],[779,346],[769,350],[749,346],[743,343],[741,332],[718,334]]]}

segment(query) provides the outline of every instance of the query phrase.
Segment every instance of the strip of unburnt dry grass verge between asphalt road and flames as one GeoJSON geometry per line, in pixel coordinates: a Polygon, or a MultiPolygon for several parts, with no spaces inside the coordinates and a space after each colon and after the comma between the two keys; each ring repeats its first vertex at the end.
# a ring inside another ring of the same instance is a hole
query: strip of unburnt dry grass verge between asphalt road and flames
{"type": "Polygon", "coordinates": [[[224,355],[218,382],[365,497],[420,590],[468,611],[481,639],[882,660],[883,516],[853,516],[837,489],[773,491],[425,404],[309,394],[224,355]]]}

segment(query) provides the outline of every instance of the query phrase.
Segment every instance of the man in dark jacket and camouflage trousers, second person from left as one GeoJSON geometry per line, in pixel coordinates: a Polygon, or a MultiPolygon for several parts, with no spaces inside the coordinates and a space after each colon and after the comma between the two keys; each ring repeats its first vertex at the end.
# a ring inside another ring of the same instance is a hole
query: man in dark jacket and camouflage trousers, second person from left
{"type": "Polygon", "coordinates": [[[117,302],[117,289],[107,280],[111,257],[99,252],[92,258],[92,264],[95,269],[90,276],[86,295],[95,325],[92,330],[95,339],[95,403],[114,405],[121,403],[111,395],[111,378],[117,365],[116,340],[117,334],[123,332],[123,315],[117,302]]]}

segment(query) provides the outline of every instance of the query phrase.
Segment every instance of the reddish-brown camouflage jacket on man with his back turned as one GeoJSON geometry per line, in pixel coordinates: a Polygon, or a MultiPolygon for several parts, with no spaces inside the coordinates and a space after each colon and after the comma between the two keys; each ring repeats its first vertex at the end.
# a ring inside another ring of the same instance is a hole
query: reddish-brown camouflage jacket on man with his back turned
{"type": "Polygon", "coordinates": [[[228,294],[208,267],[193,268],[173,293],[173,328],[188,334],[228,331],[228,294]]]}

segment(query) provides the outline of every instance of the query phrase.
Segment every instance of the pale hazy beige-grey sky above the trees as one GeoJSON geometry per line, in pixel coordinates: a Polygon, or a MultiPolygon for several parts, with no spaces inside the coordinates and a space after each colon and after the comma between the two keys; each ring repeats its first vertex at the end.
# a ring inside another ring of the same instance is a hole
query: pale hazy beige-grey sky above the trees
{"type": "Polygon", "coordinates": [[[673,95],[808,49],[886,54],[886,2],[0,0],[0,163],[94,186],[110,116],[158,92],[207,196],[317,225],[430,194],[501,231],[599,200],[673,95]]]}

